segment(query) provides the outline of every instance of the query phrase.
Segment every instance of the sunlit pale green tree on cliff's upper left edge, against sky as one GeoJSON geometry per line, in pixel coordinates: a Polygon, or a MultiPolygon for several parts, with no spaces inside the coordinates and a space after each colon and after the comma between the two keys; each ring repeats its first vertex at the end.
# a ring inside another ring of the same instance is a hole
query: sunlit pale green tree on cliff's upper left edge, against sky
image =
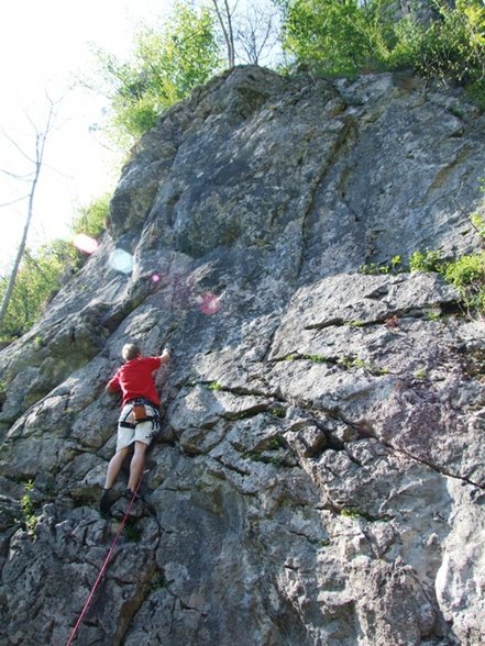
{"type": "Polygon", "coordinates": [[[221,65],[212,13],[180,2],[162,32],[145,27],[137,33],[130,60],[102,51],[97,55],[111,100],[111,135],[123,148],[221,65]]]}

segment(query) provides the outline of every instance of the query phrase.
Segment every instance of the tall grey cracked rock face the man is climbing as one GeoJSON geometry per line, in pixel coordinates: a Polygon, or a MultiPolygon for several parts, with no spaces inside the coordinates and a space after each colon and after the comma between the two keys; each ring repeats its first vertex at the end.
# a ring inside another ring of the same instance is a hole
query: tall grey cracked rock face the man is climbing
{"type": "Polygon", "coordinates": [[[245,67],[142,138],[0,353],[2,644],[66,644],[112,545],[128,341],[173,347],[163,435],[77,644],[485,642],[485,325],[436,274],[359,271],[480,249],[484,124],[406,75],[245,67]]]}

